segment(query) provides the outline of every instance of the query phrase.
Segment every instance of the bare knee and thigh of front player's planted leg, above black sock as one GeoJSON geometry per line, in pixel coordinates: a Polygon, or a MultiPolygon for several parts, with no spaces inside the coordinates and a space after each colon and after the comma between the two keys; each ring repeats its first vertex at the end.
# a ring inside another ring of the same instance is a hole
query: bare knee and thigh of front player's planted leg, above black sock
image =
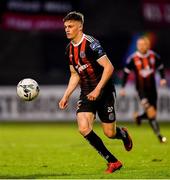
{"type": "Polygon", "coordinates": [[[95,120],[95,115],[93,112],[77,113],[78,129],[83,136],[86,136],[93,129],[94,120],[95,120]]]}

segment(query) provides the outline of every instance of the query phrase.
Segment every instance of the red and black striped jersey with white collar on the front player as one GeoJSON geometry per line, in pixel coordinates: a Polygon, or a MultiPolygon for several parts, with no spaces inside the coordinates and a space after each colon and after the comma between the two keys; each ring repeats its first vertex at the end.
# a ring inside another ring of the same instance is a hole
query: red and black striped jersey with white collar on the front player
{"type": "MultiPolygon", "coordinates": [[[[87,95],[99,83],[103,67],[97,62],[102,56],[106,55],[99,41],[92,36],[83,34],[78,44],[69,43],[66,49],[66,56],[70,65],[80,76],[81,94],[87,95]]],[[[114,85],[110,79],[105,89],[113,91],[114,85]]]]}

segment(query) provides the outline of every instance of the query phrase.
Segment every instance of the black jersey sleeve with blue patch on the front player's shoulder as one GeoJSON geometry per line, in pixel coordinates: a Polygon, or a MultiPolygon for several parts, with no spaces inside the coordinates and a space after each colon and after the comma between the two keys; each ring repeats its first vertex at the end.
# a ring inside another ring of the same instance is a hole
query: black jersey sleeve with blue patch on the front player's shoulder
{"type": "Polygon", "coordinates": [[[98,40],[94,40],[89,45],[90,53],[92,53],[94,59],[97,61],[102,56],[106,55],[103,47],[98,40]]]}

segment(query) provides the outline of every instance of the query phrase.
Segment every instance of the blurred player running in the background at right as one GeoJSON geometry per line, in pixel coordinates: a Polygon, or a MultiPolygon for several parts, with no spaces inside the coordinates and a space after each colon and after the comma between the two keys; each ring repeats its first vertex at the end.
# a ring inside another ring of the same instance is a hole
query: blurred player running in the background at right
{"type": "Polygon", "coordinates": [[[160,142],[165,142],[166,137],[160,133],[159,124],[156,120],[157,115],[157,89],[155,81],[156,70],[160,73],[160,85],[166,85],[164,65],[159,55],[150,50],[149,39],[145,36],[138,38],[137,51],[130,55],[127,59],[124,68],[124,76],[122,89],[120,95],[124,96],[125,85],[128,80],[128,75],[134,71],[136,80],[136,90],[138,92],[141,105],[144,108],[144,113],[139,115],[137,112],[134,114],[135,121],[138,125],[141,124],[143,119],[149,120],[151,128],[157,135],[160,142]]]}

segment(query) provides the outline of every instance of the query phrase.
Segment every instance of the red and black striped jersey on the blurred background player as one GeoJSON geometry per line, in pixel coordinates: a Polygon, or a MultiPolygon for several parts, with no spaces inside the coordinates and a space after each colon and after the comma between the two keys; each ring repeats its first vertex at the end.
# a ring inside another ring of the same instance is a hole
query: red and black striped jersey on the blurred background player
{"type": "Polygon", "coordinates": [[[164,65],[158,54],[148,50],[146,54],[136,51],[128,59],[124,68],[123,86],[127,81],[127,75],[134,71],[136,78],[136,88],[138,91],[147,91],[156,88],[155,72],[160,72],[164,78],[164,65]]]}

